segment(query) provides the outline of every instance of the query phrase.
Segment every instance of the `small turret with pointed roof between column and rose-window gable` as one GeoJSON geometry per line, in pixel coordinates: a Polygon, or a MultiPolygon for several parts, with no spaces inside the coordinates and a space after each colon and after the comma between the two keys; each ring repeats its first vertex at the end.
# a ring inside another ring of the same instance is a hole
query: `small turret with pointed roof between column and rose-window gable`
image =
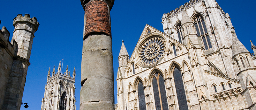
{"type": "Polygon", "coordinates": [[[126,66],[129,61],[129,58],[130,56],[124,46],[124,41],[122,41],[121,50],[118,56],[119,67],[126,66]]]}

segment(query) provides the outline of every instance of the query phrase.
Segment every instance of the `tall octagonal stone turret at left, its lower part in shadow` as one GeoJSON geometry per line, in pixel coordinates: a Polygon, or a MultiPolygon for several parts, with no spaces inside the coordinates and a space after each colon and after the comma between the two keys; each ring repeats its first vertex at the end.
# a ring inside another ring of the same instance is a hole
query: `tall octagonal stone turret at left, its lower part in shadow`
{"type": "Polygon", "coordinates": [[[9,81],[6,87],[3,110],[19,110],[26,83],[27,68],[30,65],[34,33],[37,31],[39,23],[35,17],[30,18],[29,14],[23,17],[18,14],[14,18],[12,41],[17,42],[15,56],[11,67],[9,81]]]}

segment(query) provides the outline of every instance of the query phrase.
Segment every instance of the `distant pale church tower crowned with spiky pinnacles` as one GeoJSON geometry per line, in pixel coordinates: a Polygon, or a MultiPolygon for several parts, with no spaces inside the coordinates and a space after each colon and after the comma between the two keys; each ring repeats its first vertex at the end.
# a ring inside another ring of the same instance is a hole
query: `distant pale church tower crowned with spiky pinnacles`
{"type": "Polygon", "coordinates": [[[59,63],[56,73],[55,66],[53,67],[52,75],[50,71],[51,69],[49,68],[41,110],[76,110],[76,68],[74,67],[72,76],[68,71],[68,66],[66,72],[61,72],[61,63],[59,63]]]}

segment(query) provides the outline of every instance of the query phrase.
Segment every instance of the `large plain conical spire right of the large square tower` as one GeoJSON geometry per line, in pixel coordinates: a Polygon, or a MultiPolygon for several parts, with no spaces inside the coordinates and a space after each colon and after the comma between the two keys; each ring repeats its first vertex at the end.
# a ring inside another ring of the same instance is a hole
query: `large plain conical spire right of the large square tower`
{"type": "Polygon", "coordinates": [[[242,52],[249,52],[245,48],[245,46],[238,40],[235,30],[232,30],[231,33],[232,33],[232,58],[234,58],[234,56],[242,52]]]}

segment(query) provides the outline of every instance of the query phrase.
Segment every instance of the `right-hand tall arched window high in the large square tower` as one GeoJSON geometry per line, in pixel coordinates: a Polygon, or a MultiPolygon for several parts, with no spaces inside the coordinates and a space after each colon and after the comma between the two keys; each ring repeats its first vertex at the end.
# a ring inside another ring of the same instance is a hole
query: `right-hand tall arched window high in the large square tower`
{"type": "Polygon", "coordinates": [[[197,35],[201,38],[203,41],[203,45],[205,47],[205,50],[208,50],[212,48],[211,40],[209,38],[209,34],[206,28],[205,20],[202,16],[197,16],[194,18],[194,24],[196,27],[197,35]]]}

